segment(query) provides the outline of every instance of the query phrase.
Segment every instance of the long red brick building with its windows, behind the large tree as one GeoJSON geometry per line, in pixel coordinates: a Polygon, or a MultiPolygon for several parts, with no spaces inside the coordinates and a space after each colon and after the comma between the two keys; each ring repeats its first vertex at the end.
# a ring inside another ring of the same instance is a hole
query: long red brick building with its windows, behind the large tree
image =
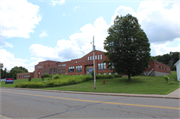
{"type": "MultiPolygon", "coordinates": [[[[115,73],[107,68],[103,61],[106,59],[104,52],[95,50],[95,70],[97,74],[115,73]]],[[[67,74],[67,75],[85,75],[90,74],[93,70],[93,51],[79,59],[72,59],[66,62],[42,61],[35,66],[34,76],[31,78],[41,78],[44,73],[48,74],[67,74]]],[[[170,67],[157,61],[150,61],[149,67],[144,71],[145,75],[160,76],[170,74],[170,67]],[[160,68],[162,67],[162,68],[160,68]]],[[[17,79],[22,79],[24,74],[17,74],[17,79]]]]}

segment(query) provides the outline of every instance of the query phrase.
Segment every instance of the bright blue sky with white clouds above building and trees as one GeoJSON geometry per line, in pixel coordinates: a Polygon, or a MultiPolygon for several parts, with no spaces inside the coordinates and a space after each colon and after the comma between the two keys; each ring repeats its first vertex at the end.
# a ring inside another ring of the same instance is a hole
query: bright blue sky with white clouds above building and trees
{"type": "Polygon", "coordinates": [[[105,51],[108,28],[127,14],[138,19],[151,56],[180,52],[179,0],[0,0],[0,62],[32,72],[40,61],[83,57],[93,36],[105,51]]]}

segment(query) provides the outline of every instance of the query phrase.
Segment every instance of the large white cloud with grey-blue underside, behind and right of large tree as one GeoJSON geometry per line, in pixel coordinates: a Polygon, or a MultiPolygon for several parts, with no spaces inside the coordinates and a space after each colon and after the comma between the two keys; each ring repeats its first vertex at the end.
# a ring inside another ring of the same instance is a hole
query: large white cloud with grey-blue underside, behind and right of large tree
{"type": "Polygon", "coordinates": [[[180,45],[168,46],[180,38],[179,11],[178,1],[144,0],[137,12],[125,6],[117,8],[111,25],[117,15],[132,14],[138,18],[141,28],[147,34],[151,43],[151,55],[162,55],[170,51],[180,51],[180,45]]]}

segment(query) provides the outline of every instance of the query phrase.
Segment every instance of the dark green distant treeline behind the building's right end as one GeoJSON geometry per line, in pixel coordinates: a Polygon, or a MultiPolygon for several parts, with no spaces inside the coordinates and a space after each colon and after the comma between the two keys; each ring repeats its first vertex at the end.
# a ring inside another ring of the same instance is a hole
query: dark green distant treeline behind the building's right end
{"type": "Polygon", "coordinates": [[[163,64],[166,64],[171,67],[171,70],[176,70],[176,66],[174,64],[179,60],[179,52],[172,52],[170,54],[158,55],[151,57],[150,60],[156,60],[163,64]]]}

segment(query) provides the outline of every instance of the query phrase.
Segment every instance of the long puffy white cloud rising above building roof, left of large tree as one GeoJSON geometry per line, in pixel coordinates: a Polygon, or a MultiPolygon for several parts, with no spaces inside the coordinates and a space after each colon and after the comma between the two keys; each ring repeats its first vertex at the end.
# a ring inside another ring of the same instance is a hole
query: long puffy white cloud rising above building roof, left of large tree
{"type": "Polygon", "coordinates": [[[31,54],[44,60],[67,61],[71,59],[81,58],[86,53],[92,51],[93,35],[97,50],[103,49],[103,42],[107,36],[108,25],[106,21],[100,17],[94,24],[86,24],[80,28],[80,33],[74,33],[70,40],[61,39],[57,41],[55,48],[43,46],[41,44],[33,44],[29,48],[31,54]]]}

